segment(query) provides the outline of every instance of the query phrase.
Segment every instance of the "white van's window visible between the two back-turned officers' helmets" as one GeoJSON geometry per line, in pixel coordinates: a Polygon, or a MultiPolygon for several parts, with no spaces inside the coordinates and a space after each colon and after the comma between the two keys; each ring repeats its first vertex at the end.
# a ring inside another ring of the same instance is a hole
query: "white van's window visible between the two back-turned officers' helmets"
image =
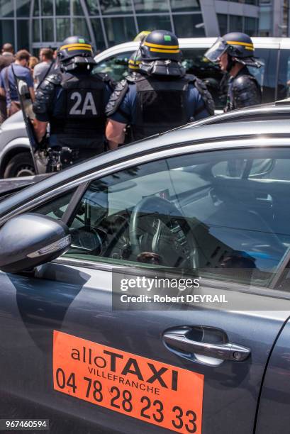
{"type": "Polygon", "coordinates": [[[128,75],[128,61],[133,51],[122,52],[119,55],[101,60],[93,69],[93,73],[103,72],[108,74],[113,80],[119,82],[128,75]]]}

